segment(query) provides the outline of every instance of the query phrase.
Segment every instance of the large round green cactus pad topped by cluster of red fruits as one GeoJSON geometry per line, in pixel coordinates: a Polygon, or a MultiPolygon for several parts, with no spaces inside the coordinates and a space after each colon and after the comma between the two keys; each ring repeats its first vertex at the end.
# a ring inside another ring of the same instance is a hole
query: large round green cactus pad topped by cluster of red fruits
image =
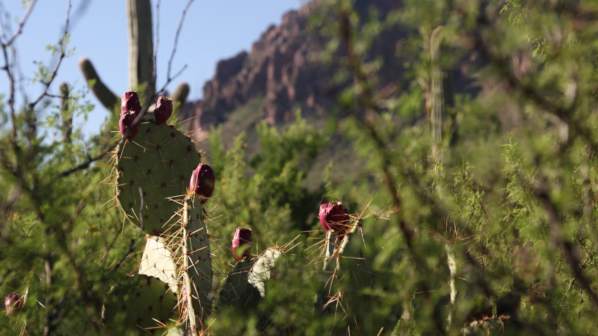
{"type": "Polygon", "coordinates": [[[200,163],[194,143],[174,126],[142,121],[133,141],[117,148],[118,204],[133,224],[141,227],[139,208],[144,194],[143,225],[147,234],[166,231],[187,192],[191,172],[200,163]]]}

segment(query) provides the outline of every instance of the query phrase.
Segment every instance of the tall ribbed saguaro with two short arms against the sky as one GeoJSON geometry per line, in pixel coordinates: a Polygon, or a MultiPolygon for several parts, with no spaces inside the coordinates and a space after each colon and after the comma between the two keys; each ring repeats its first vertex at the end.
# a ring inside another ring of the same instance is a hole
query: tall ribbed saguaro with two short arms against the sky
{"type": "MultiPolygon", "coordinates": [[[[154,42],[152,34],[151,3],[149,0],[126,0],[127,32],[129,36],[129,87],[143,88],[142,102],[155,93],[154,42]]],[[[79,68],[87,81],[93,80],[91,90],[110,111],[114,111],[118,96],[102,82],[87,57],[79,60],[79,68]]],[[[176,106],[187,99],[189,85],[181,83],[172,94],[176,106]]]]}

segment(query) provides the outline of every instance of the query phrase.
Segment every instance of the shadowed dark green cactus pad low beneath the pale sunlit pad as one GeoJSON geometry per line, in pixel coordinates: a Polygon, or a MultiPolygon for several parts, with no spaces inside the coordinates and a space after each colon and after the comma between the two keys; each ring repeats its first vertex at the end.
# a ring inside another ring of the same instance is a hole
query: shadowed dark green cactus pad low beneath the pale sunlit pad
{"type": "Polygon", "coordinates": [[[136,277],[133,288],[117,286],[106,296],[102,319],[108,330],[111,325],[124,324],[132,331],[152,331],[158,326],[156,320],[167,325],[169,320],[178,319],[176,295],[169,285],[155,277],[133,277],[136,277]]]}

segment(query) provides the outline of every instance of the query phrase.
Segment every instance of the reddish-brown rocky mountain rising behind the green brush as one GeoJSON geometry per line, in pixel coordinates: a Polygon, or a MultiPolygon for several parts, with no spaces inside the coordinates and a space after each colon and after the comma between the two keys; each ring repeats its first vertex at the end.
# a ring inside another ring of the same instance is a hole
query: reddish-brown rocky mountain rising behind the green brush
{"type": "MultiPolygon", "coordinates": [[[[364,10],[371,5],[390,10],[398,1],[359,1],[364,10]]],[[[358,4],[360,5],[360,4],[358,4]]],[[[293,120],[300,106],[303,114],[324,116],[337,99],[337,94],[351,78],[333,81],[334,66],[317,62],[326,39],[318,28],[309,25],[309,18],[318,13],[318,1],[308,2],[297,11],[284,14],[280,25],[271,25],[254,42],[251,51],[218,62],[214,77],[203,87],[203,100],[190,102],[182,109],[189,129],[202,129],[203,138],[212,126],[223,123],[230,113],[255,99],[262,99],[260,118],[270,124],[293,120]]],[[[395,57],[395,43],[404,32],[385,31],[374,42],[376,57],[382,58],[382,82],[388,84],[401,78],[402,69],[395,57]]]]}

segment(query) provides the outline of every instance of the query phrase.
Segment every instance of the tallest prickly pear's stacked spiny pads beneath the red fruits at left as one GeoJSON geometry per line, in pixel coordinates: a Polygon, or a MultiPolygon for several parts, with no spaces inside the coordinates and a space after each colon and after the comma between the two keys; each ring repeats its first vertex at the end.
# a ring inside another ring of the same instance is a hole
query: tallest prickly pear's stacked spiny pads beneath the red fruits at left
{"type": "Polygon", "coordinates": [[[195,332],[203,329],[214,296],[202,203],[188,189],[201,157],[175,126],[145,118],[115,152],[115,199],[147,234],[139,274],[169,288],[178,300],[177,318],[195,332]]]}

